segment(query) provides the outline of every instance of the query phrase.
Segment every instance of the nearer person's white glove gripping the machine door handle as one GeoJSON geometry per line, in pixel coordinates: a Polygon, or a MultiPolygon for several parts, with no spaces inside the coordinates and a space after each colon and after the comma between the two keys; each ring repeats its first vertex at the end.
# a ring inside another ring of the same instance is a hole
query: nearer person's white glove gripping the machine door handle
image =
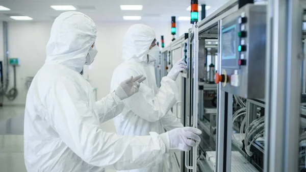
{"type": "Polygon", "coordinates": [[[170,130],[166,133],[160,134],[162,141],[166,144],[166,153],[173,153],[175,151],[189,151],[191,146],[196,146],[196,142],[200,142],[201,138],[198,136],[202,132],[193,127],[183,127],[170,130]]]}

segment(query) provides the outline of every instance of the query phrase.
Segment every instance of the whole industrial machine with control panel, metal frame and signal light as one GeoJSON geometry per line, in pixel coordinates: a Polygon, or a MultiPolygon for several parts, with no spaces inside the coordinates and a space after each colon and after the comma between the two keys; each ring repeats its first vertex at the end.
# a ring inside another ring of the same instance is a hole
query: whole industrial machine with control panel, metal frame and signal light
{"type": "Polygon", "coordinates": [[[185,57],[172,110],[202,131],[199,145],[177,156],[181,172],[306,171],[299,1],[248,3],[228,1],[198,22],[192,0],[188,38],[161,51],[164,73],[185,57]]]}

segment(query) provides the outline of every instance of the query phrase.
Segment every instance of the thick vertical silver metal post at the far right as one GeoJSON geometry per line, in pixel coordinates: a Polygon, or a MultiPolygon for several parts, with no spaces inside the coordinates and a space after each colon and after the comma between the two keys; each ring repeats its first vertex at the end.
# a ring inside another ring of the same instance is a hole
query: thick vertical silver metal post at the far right
{"type": "Polygon", "coordinates": [[[265,171],[298,171],[301,17],[298,0],[269,1],[265,171]]]}

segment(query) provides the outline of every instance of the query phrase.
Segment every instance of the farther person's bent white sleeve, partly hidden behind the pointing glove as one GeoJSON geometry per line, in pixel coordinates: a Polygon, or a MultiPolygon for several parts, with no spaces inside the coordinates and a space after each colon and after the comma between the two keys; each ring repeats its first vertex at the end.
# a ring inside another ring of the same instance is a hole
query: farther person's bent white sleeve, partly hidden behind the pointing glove
{"type": "MultiPolygon", "coordinates": [[[[125,78],[135,77],[140,74],[133,69],[125,69],[124,73],[115,72],[114,77],[117,80],[113,80],[116,83],[112,83],[112,89],[116,88],[125,78]]],[[[147,80],[150,80],[150,78],[147,78],[147,80]]],[[[160,120],[169,112],[178,97],[179,88],[175,81],[169,77],[163,77],[157,94],[150,87],[141,83],[139,92],[123,100],[123,102],[126,107],[129,107],[139,117],[154,122],[160,120]]]]}

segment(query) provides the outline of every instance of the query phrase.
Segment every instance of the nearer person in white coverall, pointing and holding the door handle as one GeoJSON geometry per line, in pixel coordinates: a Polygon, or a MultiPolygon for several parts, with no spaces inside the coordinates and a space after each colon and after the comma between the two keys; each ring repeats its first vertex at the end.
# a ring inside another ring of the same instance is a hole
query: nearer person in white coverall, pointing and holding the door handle
{"type": "Polygon", "coordinates": [[[122,112],[122,100],[136,93],[137,82],[145,78],[129,76],[95,102],[92,86],[80,75],[97,53],[95,40],[95,23],[83,13],[65,12],[55,19],[45,64],[33,79],[25,105],[24,160],[29,172],[147,167],[160,164],[167,153],[189,150],[200,141],[201,132],[195,128],[138,137],[101,130],[100,124],[122,112]]]}

